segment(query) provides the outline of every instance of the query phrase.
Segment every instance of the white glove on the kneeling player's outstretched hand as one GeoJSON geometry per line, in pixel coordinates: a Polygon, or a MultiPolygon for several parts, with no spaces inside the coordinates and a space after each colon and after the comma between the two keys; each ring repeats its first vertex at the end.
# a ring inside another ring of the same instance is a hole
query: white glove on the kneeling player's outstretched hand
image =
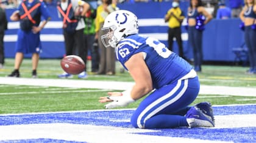
{"type": "Polygon", "coordinates": [[[130,95],[108,96],[108,99],[113,100],[113,102],[105,105],[105,108],[125,107],[135,101],[130,97],[130,95]]]}

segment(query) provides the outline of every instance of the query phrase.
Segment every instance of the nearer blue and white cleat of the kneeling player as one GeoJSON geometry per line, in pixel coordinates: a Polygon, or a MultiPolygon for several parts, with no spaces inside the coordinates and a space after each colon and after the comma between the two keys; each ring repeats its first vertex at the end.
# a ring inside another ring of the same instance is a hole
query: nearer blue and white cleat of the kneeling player
{"type": "Polygon", "coordinates": [[[201,110],[191,107],[187,112],[187,122],[190,127],[214,127],[212,120],[208,119],[201,110]]]}

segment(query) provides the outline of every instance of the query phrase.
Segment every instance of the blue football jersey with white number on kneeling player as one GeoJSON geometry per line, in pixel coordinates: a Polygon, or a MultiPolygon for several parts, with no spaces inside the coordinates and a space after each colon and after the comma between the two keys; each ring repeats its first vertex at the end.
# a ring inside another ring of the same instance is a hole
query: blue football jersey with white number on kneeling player
{"type": "MultiPolygon", "coordinates": [[[[130,35],[121,40],[116,48],[116,58],[126,68],[129,58],[145,53],[154,88],[160,88],[187,75],[193,68],[187,61],[171,52],[158,39],[144,35],[130,35]]],[[[127,68],[126,68],[127,69],[127,68]]]]}

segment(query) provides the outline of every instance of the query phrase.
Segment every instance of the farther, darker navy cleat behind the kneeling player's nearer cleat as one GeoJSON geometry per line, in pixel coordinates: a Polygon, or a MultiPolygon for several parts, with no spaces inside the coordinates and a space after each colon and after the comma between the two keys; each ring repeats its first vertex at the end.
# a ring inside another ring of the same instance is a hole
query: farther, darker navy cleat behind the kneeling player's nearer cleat
{"type": "Polygon", "coordinates": [[[199,110],[202,111],[202,113],[210,120],[215,122],[214,116],[213,116],[213,108],[210,102],[201,102],[199,104],[195,104],[194,107],[199,108],[199,110]]]}

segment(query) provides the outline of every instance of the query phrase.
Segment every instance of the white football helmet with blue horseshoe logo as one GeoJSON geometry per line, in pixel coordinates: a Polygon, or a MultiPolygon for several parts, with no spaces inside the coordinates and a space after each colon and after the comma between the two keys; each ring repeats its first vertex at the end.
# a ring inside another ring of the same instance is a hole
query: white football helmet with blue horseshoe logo
{"type": "Polygon", "coordinates": [[[101,40],[105,47],[115,48],[124,37],[138,33],[138,18],[127,10],[117,10],[107,16],[102,32],[101,40]]]}

